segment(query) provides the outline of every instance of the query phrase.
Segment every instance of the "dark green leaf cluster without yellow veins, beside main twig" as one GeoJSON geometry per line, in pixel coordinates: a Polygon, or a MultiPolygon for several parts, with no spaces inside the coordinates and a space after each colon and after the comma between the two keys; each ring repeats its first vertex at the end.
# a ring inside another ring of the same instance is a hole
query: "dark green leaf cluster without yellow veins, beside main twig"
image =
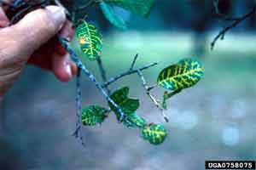
{"type": "MultiPolygon", "coordinates": [[[[129,94],[129,88],[125,87],[125,88],[120,88],[116,90],[115,92],[113,92],[113,94],[110,95],[110,98],[113,99],[114,103],[119,105],[119,107],[125,113],[125,116],[129,116],[133,114],[135,111],[137,111],[137,108],[139,107],[139,100],[128,98],[128,94],[129,94]]],[[[117,119],[119,120],[119,117],[120,117],[119,111],[110,102],[108,102],[108,105],[117,116],[117,119]]],[[[126,121],[127,123],[130,123],[127,120],[127,118],[124,121],[126,121]]]]}

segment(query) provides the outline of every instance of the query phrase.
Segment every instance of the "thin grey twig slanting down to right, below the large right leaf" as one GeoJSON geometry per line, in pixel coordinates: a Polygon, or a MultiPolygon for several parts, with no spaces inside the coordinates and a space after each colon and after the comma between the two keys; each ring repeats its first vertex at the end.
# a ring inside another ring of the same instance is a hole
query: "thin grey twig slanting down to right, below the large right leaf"
{"type": "Polygon", "coordinates": [[[145,78],[143,77],[143,72],[140,70],[137,70],[137,75],[141,78],[142,82],[143,82],[143,87],[146,90],[146,94],[148,95],[149,99],[151,99],[154,103],[154,105],[160,110],[160,113],[162,114],[162,116],[164,117],[166,122],[169,122],[168,117],[166,116],[166,114],[164,113],[164,109],[162,108],[162,106],[160,105],[160,103],[157,101],[157,99],[154,98],[153,94],[150,94],[147,82],[145,80],[145,78]]]}

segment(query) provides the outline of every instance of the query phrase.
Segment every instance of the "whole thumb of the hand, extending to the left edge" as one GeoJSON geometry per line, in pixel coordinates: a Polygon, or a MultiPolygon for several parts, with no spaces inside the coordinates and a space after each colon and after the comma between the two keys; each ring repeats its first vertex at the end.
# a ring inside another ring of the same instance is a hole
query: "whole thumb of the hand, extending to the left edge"
{"type": "Polygon", "coordinates": [[[65,20],[62,8],[48,6],[0,30],[0,97],[15,82],[30,55],[53,37],[65,20]]]}

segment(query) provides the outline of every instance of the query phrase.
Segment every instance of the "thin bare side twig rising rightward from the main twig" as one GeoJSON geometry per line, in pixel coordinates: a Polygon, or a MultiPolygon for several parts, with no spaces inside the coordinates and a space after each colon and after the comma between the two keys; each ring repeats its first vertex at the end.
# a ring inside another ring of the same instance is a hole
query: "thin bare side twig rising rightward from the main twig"
{"type": "Polygon", "coordinates": [[[116,77],[110,78],[110,79],[108,80],[108,82],[103,82],[103,83],[102,83],[102,88],[105,88],[105,87],[109,86],[111,83],[118,81],[118,80],[119,80],[120,78],[122,78],[122,77],[129,76],[129,75],[131,75],[131,74],[135,74],[135,73],[137,73],[137,71],[146,70],[146,69],[148,69],[148,68],[150,68],[150,67],[153,67],[153,66],[155,66],[155,65],[157,65],[157,64],[158,64],[158,63],[155,62],[155,63],[152,63],[152,64],[150,64],[150,65],[143,66],[142,68],[139,68],[139,69],[134,69],[134,70],[131,70],[131,71],[130,71],[130,70],[129,70],[129,71],[125,71],[125,72],[119,74],[119,75],[116,76],[116,77]]]}

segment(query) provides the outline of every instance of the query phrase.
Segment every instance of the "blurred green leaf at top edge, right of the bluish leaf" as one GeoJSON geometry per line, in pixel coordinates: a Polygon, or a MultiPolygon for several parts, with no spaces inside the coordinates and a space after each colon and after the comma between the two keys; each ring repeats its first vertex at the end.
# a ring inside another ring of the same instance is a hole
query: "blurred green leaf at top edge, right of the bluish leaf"
{"type": "Polygon", "coordinates": [[[106,3],[125,8],[131,13],[148,17],[155,0],[104,0],[106,3]]]}

